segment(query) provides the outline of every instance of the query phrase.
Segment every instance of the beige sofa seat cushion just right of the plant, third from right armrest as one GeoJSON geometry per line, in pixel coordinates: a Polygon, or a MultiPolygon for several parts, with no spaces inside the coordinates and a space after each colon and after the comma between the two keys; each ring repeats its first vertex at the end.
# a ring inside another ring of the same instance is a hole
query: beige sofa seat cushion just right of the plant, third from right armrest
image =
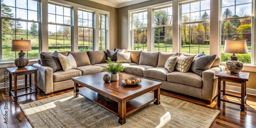
{"type": "Polygon", "coordinates": [[[143,76],[143,72],[146,69],[155,68],[153,66],[146,66],[146,65],[137,65],[137,66],[128,66],[124,68],[124,72],[131,73],[139,76],[143,76]]]}

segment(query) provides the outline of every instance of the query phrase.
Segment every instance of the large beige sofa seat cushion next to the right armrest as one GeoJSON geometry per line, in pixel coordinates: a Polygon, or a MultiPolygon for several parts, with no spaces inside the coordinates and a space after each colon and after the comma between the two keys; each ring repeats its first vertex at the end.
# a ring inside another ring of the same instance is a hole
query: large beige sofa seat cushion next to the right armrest
{"type": "Polygon", "coordinates": [[[202,77],[192,72],[186,72],[186,73],[181,73],[177,71],[171,72],[167,74],[167,81],[181,83],[181,84],[185,84],[187,86],[192,86],[196,88],[202,88],[202,85],[203,85],[202,77]]]}

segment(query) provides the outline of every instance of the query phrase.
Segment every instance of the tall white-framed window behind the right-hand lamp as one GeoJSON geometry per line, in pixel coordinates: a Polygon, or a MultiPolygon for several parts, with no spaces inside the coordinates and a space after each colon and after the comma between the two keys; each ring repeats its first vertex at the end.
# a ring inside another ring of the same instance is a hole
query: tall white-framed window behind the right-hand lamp
{"type": "Polygon", "coordinates": [[[243,63],[251,63],[252,1],[222,1],[221,14],[221,60],[227,61],[231,56],[231,54],[223,52],[225,40],[242,39],[246,40],[249,53],[236,55],[238,56],[239,61],[243,63]]]}

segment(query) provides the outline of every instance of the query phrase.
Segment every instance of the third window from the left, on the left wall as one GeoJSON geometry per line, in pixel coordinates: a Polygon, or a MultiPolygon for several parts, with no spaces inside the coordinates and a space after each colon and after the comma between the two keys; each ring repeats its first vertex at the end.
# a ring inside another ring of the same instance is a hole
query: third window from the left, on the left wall
{"type": "Polygon", "coordinates": [[[78,10],[78,51],[93,50],[93,23],[93,13],[78,10]]]}

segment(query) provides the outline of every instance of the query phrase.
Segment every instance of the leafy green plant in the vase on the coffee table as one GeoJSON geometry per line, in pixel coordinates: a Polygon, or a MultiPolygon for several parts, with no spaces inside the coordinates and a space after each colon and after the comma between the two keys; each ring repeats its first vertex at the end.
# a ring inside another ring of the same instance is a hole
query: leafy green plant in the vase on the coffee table
{"type": "Polygon", "coordinates": [[[104,66],[104,70],[110,71],[112,74],[117,74],[118,72],[123,71],[122,62],[115,63],[115,61],[112,61],[110,57],[108,57],[108,66],[104,66]]]}

